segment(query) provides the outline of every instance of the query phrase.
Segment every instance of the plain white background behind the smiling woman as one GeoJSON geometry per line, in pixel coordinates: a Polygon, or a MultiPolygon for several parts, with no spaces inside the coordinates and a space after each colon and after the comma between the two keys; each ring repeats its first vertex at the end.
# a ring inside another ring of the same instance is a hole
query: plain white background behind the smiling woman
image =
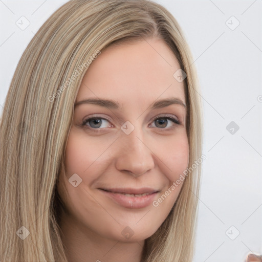
{"type": "MultiPolygon", "coordinates": [[[[0,1],[1,112],[20,56],[66,2],[0,1]],[[25,30],[16,25],[21,16],[30,21],[25,30]]],[[[202,89],[207,159],[194,262],[244,262],[249,252],[262,254],[262,1],[156,2],[181,25],[202,89]],[[240,23],[234,30],[231,16],[240,23]],[[231,121],[239,126],[234,134],[226,129],[231,121]]]]}

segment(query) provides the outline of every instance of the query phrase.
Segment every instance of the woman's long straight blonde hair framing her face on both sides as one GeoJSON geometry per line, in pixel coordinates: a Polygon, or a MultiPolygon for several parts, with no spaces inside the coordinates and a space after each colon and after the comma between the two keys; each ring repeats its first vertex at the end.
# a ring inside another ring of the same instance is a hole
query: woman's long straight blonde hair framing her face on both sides
{"type": "MultiPolygon", "coordinates": [[[[0,126],[2,262],[68,261],[60,237],[57,179],[75,99],[88,67],[69,79],[97,51],[148,37],[162,38],[187,74],[189,166],[200,158],[199,84],[176,19],[146,0],[69,1],[33,37],[7,94],[0,126]],[[16,233],[21,226],[30,232],[24,240],[16,233]]],[[[143,262],[192,261],[200,173],[198,165],[188,174],[168,217],[145,240],[143,262]]]]}

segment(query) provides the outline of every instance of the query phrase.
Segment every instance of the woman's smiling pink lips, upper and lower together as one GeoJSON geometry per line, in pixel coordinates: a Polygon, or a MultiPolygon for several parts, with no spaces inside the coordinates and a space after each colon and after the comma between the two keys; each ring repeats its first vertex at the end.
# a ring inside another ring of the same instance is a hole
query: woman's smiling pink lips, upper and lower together
{"type": "Polygon", "coordinates": [[[125,207],[125,208],[144,208],[152,204],[156,195],[159,193],[159,190],[154,190],[152,188],[111,188],[111,189],[102,189],[99,190],[106,195],[107,197],[111,198],[115,203],[125,207]],[[106,191],[107,190],[107,191],[106,191]],[[130,197],[126,194],[143,194],[147,193],[146,195],[141,195],[138,197],[130,197]]]}

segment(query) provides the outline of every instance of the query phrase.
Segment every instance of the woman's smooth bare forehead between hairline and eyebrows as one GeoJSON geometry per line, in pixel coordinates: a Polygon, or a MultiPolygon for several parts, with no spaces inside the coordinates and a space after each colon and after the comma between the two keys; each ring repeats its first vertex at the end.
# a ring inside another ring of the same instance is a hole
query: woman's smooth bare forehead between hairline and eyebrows
{"type": "Polygon", "coordinates": [[[184,81],[173,77],[179,68],[177,58],[162,39],[114,45],[102,50],[91,63],[77,101],[103,97],[142,105],[157,98],[177,97],[185,102],[184,81]]]}

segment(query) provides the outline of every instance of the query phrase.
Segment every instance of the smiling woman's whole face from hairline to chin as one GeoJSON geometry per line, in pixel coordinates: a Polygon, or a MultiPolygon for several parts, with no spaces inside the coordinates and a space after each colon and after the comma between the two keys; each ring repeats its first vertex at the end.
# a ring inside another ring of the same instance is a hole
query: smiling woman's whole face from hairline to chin
{"type": "Polygon", "coordinates": [[[155,38],[111,46],[90,65],[59,176],[66,188],[58,183],[64,219],[83,232],[141,241],[176,202],[189,161],[184,81],[173,76],[179,68],[155,38]]]}

